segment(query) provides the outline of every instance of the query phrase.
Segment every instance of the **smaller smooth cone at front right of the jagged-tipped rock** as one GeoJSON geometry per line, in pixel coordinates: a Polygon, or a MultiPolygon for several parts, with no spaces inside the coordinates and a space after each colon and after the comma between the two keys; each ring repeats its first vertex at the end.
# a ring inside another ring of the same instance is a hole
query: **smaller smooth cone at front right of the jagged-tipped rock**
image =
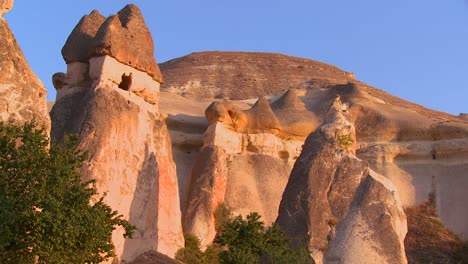
{"type": "Polygon", "coordinates": [[[407,222],[393,184],[370,171],[354,196],[324,262],[406,263],[407,222]]]}

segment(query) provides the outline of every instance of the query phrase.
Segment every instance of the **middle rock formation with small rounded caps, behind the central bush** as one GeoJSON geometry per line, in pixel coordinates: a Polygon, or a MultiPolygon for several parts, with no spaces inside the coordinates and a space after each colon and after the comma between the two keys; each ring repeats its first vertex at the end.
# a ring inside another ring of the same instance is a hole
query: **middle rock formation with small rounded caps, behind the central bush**
{"type": "Polygon", "coordinates": [[[215,211],[221,203],[238,214],[259,212],[268,224],[275,220],[302,145],[277,136],[280,121],[266,98],[245,111],[229,102],[214,102],[205,114],[210,125],[188,176],[183,206],[184,231],[199,237],[204,246],[216,234],[215,211]]]}

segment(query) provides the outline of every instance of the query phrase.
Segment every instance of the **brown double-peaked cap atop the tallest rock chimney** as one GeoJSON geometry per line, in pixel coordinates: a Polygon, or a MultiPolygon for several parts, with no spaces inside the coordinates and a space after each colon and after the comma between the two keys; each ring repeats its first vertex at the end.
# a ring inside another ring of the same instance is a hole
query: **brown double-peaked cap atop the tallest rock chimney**
{"type": "Polygon", "coordinates": [[[67,64],[105,55],[162,82],[151,32],[136,5],[127,5],[107,19],[93,10],[83,16],[62,48],[67,64]]]}

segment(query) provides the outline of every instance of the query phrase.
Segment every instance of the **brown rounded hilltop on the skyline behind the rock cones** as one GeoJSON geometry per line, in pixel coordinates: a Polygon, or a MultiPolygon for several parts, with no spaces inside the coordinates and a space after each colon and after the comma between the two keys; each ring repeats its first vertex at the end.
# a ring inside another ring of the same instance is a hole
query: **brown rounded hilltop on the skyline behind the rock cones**
{"type": "Polygon", "coordinates": [[[352,74],[335,66],[282,54],[197,52],[160,65],[161,91],[184,97],[258,98],[293,88],[311,79],[317,85],[346,83],[352,74]]]}

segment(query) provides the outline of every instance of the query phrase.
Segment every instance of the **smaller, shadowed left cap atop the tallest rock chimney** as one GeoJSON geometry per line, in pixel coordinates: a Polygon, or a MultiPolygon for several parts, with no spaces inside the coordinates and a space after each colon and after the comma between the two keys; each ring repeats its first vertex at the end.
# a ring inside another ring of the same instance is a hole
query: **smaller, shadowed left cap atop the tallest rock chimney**
{"type": "Polygon", "coordinates": [[[94,37],[105,20],[97,10],[80,19],[62,48],[62,56],[67,64],[89,61],[89,50],[94,44],[94,37]]]}

